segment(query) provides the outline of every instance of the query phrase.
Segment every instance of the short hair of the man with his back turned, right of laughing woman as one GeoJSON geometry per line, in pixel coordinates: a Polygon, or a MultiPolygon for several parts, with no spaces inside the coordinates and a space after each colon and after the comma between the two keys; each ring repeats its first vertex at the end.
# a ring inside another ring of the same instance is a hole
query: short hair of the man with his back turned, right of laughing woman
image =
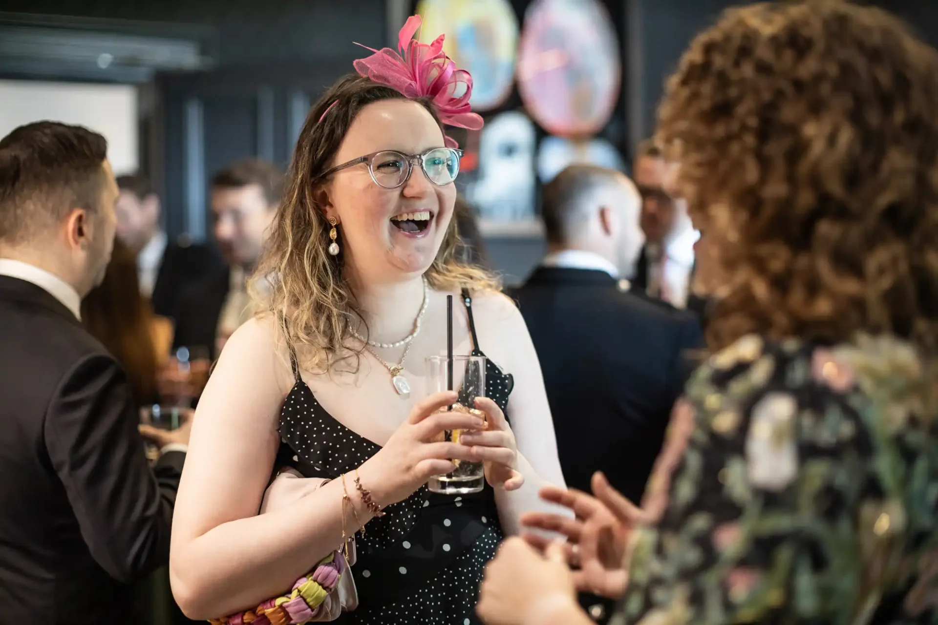
{"type": "Polygon", "coordinates": [[[579,225],[585,223],[582,209],[600,186],[609,185],[622,174],[598,165],[567,165],[544,186],[541,218],[550,244],[567,243],[579,225]]]}

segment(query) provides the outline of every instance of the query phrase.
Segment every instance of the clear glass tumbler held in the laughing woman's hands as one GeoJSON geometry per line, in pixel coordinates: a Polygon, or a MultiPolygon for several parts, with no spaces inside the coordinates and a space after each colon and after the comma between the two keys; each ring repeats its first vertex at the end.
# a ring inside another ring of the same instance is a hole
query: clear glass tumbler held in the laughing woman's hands
{"type": "MultiPolygon", "coordinates": [[[[446,356],[431,356],[427,359],[427,393],[435,394],[449,388],[450,361],[446,356]]],[[[485,356],[453,356],[452,389],[459,393],[454,411],[472,412],[485,418],[485,413],[476,409],[476,397],[485,396],[485,356]]],[[[447,442],[459,442],[462,430],[446,430],[447,442]]],[[[431,493],[465,495],[477,493],[485,486],[485,471],[481,462],[453,460],[456,469],[444,475],[434,475],[427,483],[431,493]]]]}

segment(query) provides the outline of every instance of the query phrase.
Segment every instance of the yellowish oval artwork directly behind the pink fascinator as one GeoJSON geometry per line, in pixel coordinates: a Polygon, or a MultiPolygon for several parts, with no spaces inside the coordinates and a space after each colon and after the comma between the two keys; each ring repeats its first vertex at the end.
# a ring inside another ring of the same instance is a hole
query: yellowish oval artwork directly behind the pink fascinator
{"type": "Polygon", "coordinates": [[[518,18],[507,0],[421,0],[420,41],[446,35],[443,50],[473,78],[470,103],[477,112],[498,107],[511,94],[518,18]]]}

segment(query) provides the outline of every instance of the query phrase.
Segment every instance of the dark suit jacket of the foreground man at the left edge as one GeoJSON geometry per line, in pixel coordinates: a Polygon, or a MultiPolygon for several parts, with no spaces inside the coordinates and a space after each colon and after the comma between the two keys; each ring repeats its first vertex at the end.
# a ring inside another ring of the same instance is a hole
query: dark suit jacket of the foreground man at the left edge
{"type": "Polygon", "coordinates": [[[0,346],[0,621],[130,622],[185,454],[150,468],[120,365],[45,290],[0,276],[0,346]]]}

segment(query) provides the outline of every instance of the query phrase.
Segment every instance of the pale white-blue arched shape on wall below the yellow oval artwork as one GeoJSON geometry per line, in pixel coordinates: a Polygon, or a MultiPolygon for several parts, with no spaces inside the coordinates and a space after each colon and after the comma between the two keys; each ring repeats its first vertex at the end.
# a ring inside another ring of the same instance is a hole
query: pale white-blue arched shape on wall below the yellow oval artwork
{"type": "Polygon", "coordinates": [[[535,219],[535,126],[518,111],[503,112],[482,127],[477,179],[466,187],[466,200],[480,219],[535,219]]]}

